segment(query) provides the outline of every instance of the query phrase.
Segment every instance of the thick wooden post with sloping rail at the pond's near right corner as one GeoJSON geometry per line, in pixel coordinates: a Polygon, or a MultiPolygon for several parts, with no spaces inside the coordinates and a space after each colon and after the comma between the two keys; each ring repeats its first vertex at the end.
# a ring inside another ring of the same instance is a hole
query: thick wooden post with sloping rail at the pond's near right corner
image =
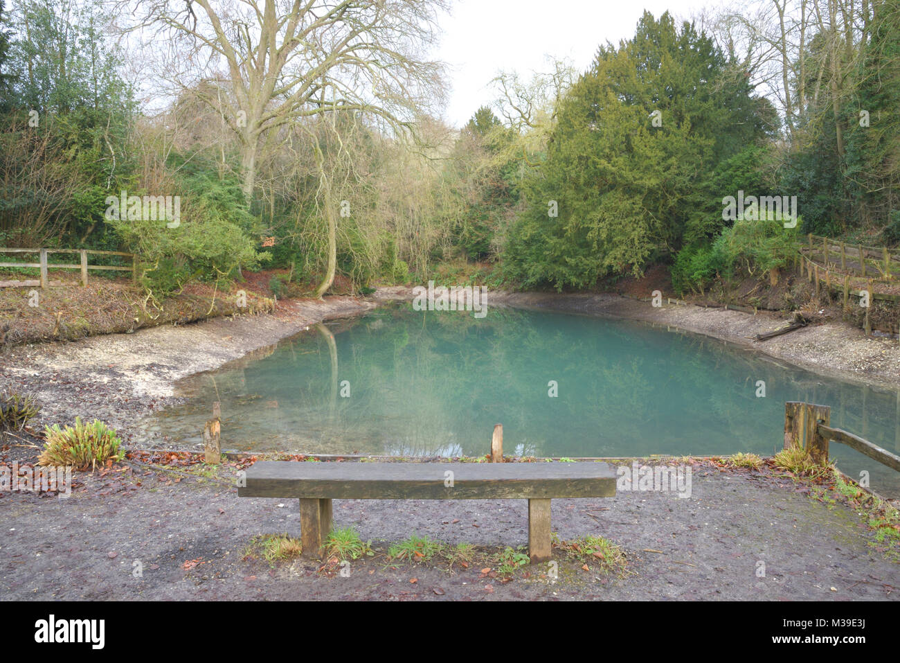
{"type": "Polygon", "coordinates": [[[785,404],[785,449],[803,447],[809,450],[816,462],[824,465],[828,462],[828,442],[831,440],[846,444],[870,459],[878,460],[882,465],[900,472],[900,456],[851,432],[832,428],[829,425],[831,413],[832,408],[828,405],[788,401],[785,404]]]}

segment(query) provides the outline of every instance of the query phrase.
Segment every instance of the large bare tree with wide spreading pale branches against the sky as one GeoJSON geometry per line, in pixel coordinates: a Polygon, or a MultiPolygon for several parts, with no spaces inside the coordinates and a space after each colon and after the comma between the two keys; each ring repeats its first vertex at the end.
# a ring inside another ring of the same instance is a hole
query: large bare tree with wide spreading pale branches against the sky
{"type": "Polygon", "coordinates": [[[405,132],[443,98],[443,65],[427,50],[446,0],[123,2],[139,19],[132,29],[165,40],[166,77],[220,109],[248,199],[279,127],[343,110],[405,132]]]}

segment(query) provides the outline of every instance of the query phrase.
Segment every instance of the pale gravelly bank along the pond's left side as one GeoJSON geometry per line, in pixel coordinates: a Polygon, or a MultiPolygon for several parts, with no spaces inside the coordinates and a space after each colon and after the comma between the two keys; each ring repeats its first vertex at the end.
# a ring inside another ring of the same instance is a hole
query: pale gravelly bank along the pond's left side
{"type": "Polygon", "coordinates": [[[77,414],[127,431],[135,418],[176,402],[176,380],[218,368],[315,322],[376,306],[350,296],[284,301],[275,313],[23,345],[0,355],[0,388],[34,395],[42,406],[40,425],[72,422],[77,414]]]}

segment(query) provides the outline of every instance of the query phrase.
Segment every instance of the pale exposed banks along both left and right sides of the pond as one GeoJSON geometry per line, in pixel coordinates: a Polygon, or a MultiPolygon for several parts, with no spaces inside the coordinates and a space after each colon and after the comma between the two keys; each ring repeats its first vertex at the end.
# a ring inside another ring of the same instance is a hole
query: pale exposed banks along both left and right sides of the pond
{"type": "MultiPolygon", "coordinates": [[[[0,385],[36,397],[38,424],[70,423],[73,414],[94,417],[127,434],[131,422],[177,404],[175,383],[247,357],[303,332],[311,324],[362,315],[392,301],[409,301],[412,288],[379,288],[372,298],[331,296],[325,301],[288,300],[275,313],[223,317],[184,326],[166,325],[81,341],[19,346],[0,357],[0,385]]],[[[756,315],[695,304],[664,304],[612,294],[491,291],[485,304],[647,322],[698,333],[760,352],[771,359],[875,388],[900,388],[897,341],[863,335],[843,322],[824,322],[752,341],[785,323],[777,314],[756,315]]]]}

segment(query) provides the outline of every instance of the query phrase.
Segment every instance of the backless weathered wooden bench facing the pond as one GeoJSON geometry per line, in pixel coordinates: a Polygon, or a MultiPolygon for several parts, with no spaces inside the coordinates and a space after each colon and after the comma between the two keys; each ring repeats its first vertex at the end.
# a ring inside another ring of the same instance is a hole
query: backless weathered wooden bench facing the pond
{"type": "Polygon", "coordinates": [[[247,470],[240,497],[297,497],[304,555],[331,531],[332,499],[528,500],[528,554],[550,559],[550,500],[612,497],[606,463],[365,463],[264,460],[247,470]]]}

